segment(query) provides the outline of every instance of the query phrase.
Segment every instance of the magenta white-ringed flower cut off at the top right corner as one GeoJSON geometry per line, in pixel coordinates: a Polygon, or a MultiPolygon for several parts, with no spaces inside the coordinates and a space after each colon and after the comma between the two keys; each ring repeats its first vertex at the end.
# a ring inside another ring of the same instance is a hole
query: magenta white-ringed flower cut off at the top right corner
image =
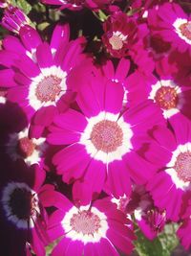
{"type": "Polygon", "coordinates": [[[181,53],[187,50],[191,53],[191,18],[182,11],[180,5],[165,3],[159,9],[151,10],[149,16],[150,25],[165,41],[181,53]]]}

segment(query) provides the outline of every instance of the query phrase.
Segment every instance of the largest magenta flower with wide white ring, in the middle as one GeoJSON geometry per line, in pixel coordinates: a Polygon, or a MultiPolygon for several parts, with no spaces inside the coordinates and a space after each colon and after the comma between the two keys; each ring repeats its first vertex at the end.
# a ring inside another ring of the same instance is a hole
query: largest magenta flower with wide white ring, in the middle
{"type": "Polygon", "coordinates": [[[73,75],[70,82],[78,86],[76,102],[81,112],[69,109],[56,116],[48,135],[50,144],[68,145],[53,156],[57,174],[67,183],[83,177],[93,192],[104,186],[115,197],[129,195],[130,177],[144,183],[156,171],[136,151],[147,128],[163,123],[160,109],[146,101],[122,113],[120,83],[96,73],[88,75],[83,67],[73,75]]]}

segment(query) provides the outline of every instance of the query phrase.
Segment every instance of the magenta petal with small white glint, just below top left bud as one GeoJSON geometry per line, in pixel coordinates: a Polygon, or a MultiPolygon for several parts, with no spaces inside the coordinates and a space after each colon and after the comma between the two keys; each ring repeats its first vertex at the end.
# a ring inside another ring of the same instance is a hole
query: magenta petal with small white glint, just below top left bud
{"type": "Polygon", "coordinates": [[[32,52],[33,49],[42,42],[40,35],[32,27],[25,25],[20,28],[19,35],[27,50],[32,52]]]}

